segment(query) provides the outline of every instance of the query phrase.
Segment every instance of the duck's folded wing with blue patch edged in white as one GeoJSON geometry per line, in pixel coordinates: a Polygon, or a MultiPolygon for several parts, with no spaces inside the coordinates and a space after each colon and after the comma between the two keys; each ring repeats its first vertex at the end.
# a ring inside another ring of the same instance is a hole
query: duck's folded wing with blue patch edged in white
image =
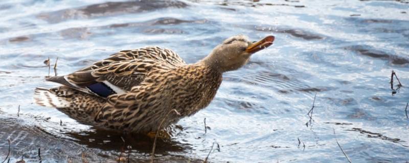
{"type": "Polygon", "coordinates": [[[177,65],[185,65],[185,62],[172,50],[145,47],[120,51],[82,70],[47,80],[106,98],[138,86],[152,68],[177,65]]]}

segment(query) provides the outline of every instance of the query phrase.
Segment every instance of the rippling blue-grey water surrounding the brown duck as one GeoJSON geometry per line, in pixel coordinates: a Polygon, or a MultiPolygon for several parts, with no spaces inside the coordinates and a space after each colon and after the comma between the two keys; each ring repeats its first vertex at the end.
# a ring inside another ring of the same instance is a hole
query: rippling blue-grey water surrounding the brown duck
{"type": "Polygon", "coordinates": [[[158,45],[194,63],[236,34],[276,41],[223,74],[213,102],[157,142],[155,161],[201,162],[217,142],[209,161],[347,162],[336,140],[353,162],[409,161],[408,3],[2,1],[0,161],[7,139],[10,162],[38,162],[38,148],[42,162],[116,162],[128,151],[130,162],[149,161],[149,138],[123,142],[33,104],[35,87],[57,86],[44,82],[43,61],[58,57],[62,75],[119,50],[158,45]],[[403,85],[395,94],[392,70],[403,85]]]}

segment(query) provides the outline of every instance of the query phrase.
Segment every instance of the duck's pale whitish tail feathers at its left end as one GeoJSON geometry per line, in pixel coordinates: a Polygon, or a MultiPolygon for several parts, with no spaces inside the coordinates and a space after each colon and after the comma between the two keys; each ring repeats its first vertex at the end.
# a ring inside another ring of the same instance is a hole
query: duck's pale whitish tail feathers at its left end
{"type": "Polygon", "coordinates": [[[59,96],[53,89],[36,88],[34,91],[34,102],[41,106],[63,108],[70,106],[66,98],[59,96]]]}

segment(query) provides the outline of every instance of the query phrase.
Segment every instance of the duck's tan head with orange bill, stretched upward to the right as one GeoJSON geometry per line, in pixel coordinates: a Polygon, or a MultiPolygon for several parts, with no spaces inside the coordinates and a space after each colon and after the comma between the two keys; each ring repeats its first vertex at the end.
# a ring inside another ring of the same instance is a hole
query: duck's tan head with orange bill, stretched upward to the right
{"type": "Polygon", "coordinates": [[[236,70],[245,65],[255,52],[270,46],[274,39],[274,36],[267,36],[252,42],[244,35],[233,36],[217,45],[201,62],[220,72],[236,70]]]}

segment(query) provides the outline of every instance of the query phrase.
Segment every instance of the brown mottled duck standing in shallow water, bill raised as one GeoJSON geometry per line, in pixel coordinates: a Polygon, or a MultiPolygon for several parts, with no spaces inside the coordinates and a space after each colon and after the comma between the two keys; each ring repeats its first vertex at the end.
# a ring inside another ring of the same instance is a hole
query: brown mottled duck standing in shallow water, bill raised
{"type": "Polygon", "coordinates": [[[73,73],[46,78],[61,86],[36,88],[34,102],[99,129],[157,132],[208,106],[222,74],[239,69],[274,40],[233,36],[192,64],[168,48],[122,50],[73,73]]]}

